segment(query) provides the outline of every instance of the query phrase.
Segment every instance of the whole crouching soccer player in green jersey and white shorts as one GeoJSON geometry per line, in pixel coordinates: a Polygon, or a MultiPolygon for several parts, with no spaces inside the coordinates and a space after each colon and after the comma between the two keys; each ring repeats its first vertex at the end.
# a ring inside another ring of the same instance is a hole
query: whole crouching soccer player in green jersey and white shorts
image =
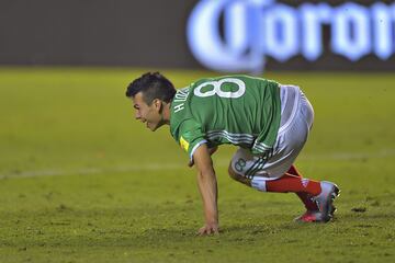
{"type": "Polygon", "coordinates": [[[211,155],[217,146],[238,147],[228,173],[262,192],[295,193],[306,207],[296,218],[327,222],[339,188],[304,179],[293,164],[307,140],[314,112],[298,87],[248,76],[201,79],[176,90],[159,72],[134,80],[126,91],[136,119],[150,130],[170,125],[174,140],[198,168],[205,224],[200,235],[218,232],[217,183],[211,155]]]}

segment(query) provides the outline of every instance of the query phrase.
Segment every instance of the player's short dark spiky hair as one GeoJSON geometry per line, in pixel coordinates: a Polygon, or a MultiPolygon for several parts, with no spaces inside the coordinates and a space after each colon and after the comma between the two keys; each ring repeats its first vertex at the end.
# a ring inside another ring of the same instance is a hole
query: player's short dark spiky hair
{"type": "Polygon", "coordinates": [[[143,100],[150,105],[155,99],[171,102],[176,95],[174,85],[159,72],[147,72],[135,79],[126,90],[126,96],[133,98],[143,92],[143,100]]]}

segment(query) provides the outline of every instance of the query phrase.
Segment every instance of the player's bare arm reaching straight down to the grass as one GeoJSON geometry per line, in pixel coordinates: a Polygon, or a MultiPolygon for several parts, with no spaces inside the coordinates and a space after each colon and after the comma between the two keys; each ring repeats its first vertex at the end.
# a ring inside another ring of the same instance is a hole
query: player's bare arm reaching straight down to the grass
{"type": "Polygon", "coordinates": [[[193,153],[198,168],[198,185],[203,201],[205,224],[199,235],[218,233],[217,182],[213,161],[206,144],[198,147],[193,153]]]}

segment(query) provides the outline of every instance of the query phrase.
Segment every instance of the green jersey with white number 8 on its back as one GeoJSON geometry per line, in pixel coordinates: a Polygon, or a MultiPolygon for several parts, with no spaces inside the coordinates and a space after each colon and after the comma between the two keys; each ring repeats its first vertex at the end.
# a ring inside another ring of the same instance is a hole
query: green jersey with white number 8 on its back
{"type": "Polygon", "coordinates": [[[192,159],[202,144],[232,144],[268,155],[281,118],[279,83],[247,76],[201,79],[178,90],[170,133],[192,159]]]}

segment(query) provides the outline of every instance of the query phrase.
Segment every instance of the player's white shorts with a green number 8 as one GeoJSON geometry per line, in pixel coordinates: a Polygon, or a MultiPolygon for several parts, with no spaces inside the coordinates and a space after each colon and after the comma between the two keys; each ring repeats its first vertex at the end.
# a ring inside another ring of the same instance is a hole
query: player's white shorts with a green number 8
{"type": "Polygon", "coordinates": [[[239,148],[232,158],[233,170],[255,182],[282,176],[305,145],[314,121],[314,111],[298,87],[281,85],[281,123],[272,155],[262,159],[249,149],[239,148]],[[260,167],[259,170],[256,170],[260,167]],[[252,173],[251,173],[252,172],[252,173]]]}

